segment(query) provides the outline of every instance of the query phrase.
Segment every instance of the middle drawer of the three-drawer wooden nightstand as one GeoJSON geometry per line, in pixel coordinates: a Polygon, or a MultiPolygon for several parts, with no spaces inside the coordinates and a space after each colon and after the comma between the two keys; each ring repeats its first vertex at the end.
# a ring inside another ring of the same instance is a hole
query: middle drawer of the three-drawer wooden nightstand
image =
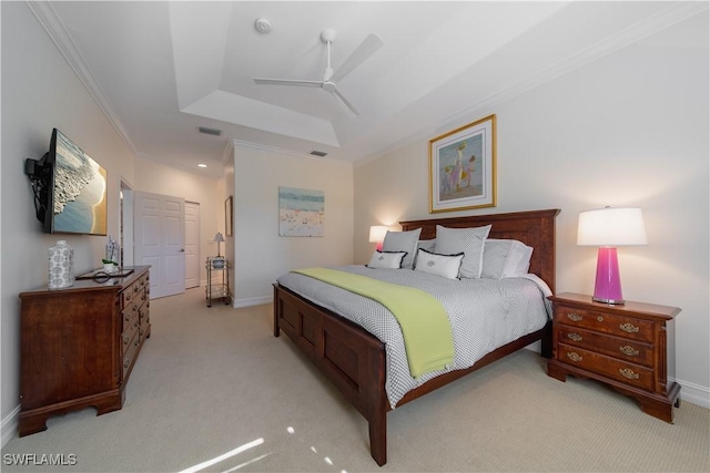
{"type": "Polygon", "coordinates": [[[559,326],[557,336],[560,343],[574,345],[623,361],[653,366],[653,346],[649,343],[562,325],[559,326]]]}

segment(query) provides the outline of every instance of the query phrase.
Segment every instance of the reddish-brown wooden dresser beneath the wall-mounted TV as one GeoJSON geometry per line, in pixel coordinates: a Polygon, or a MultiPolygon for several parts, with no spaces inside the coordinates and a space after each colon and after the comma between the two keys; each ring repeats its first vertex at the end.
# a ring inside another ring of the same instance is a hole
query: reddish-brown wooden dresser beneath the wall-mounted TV
{"type": "Polygon", "coordinates": [[[20,436],[47,430],[50,415],[88,407],[101,415],[123,407],[151,333],[149,269],[20,294],[20,436]]]}

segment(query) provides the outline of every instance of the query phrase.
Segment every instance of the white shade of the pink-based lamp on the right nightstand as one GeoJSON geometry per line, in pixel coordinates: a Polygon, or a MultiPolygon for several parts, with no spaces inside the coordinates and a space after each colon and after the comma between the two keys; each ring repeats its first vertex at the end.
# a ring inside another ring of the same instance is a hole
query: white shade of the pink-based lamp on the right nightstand
{"type": "Polygon", "coordinates": [[[579,213],[577,245],[647,245],[646,226],[640,208],[600,208],[579,213]]]}

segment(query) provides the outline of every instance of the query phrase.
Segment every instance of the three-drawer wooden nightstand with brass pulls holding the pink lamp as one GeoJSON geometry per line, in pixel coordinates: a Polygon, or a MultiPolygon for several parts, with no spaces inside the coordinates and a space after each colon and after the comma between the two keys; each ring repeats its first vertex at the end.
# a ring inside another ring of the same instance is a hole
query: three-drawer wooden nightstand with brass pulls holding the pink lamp
{"type": "Polygon", "coordinates": [[[636,398],[647,414],[672,423],[680,385],[668,381],[674,370],[668,363],[673,337],[667,326],[680,309],[633,301],[612,306],[571,292],[549,299],[555,313],[548,376],[605,382],[636,398]]]}

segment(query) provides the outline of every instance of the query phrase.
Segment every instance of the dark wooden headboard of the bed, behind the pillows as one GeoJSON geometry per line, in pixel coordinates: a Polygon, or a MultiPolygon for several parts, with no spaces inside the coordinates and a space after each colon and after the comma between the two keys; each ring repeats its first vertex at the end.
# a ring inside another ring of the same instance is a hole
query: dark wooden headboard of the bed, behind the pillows
{"type": "Polygon", "coordinates": [[[422,228],[419,239],[436,238],[436,226],[469,228],[493,225],[488,238],[517,239],[531,246],[530,273],[538,275],[555,292],[555,217],[559,208],[515,212],[509,214],[471,215],[400,222],[402,230],[422,228]]]}

